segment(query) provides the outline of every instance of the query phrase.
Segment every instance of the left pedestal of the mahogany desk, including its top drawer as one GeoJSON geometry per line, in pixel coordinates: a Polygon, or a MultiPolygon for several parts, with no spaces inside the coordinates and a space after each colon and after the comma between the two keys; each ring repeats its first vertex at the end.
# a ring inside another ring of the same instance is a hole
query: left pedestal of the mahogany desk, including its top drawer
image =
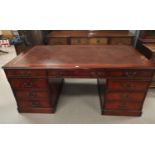
{"type": "Polygon", "coordinates": [[[63,79],[48,79],[46,70],[5,69],[18,111],[54,113],[63,79]]]}

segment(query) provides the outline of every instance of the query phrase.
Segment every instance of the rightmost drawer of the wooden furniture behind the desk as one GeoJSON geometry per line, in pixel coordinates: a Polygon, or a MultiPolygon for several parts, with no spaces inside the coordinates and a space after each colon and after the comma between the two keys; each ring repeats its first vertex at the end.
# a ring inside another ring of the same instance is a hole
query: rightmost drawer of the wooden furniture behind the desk
{"type": "Polygon", "coordinates": [[[111,38],[110,44],[114,45],[131,45],[132,38],[111,38]]]}

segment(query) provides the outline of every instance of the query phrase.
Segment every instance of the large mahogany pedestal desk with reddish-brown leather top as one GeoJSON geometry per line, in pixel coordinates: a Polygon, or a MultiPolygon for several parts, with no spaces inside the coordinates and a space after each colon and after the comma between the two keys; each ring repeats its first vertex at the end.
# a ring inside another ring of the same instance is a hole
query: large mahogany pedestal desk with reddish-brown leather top
{"type": "Polygon", "coordinates": [[[140,116],[155,64],[127,45],[40,45],[3,68],[19,112],[54,113],[64,78],[97,78],[102,114],[140,116]]]}

